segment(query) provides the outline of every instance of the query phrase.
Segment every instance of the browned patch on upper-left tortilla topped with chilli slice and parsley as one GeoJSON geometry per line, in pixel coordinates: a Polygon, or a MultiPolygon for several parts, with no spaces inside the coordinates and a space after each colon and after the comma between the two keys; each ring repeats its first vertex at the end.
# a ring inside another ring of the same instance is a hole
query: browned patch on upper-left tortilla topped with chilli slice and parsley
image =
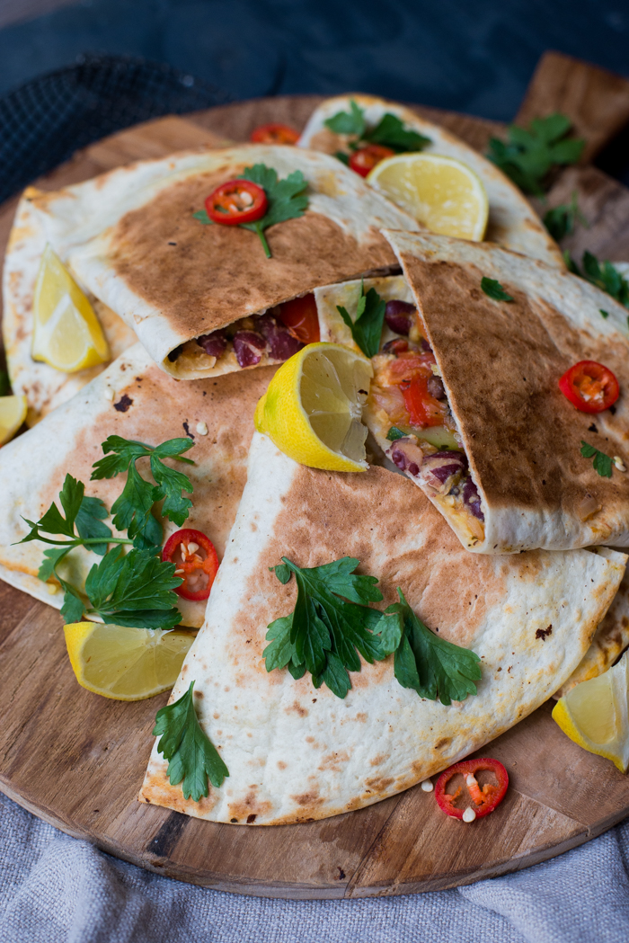
{"type": "Polygon", "coordinates": [[[256,233],[194,219],[207,194],[242,169],[225,165],[174,183],[126,213],[111,235],[116,273],[182,336],[195,337],[319,285],[395,264],[376,229],[358,243],[310,211],[266,230],[271,259],[256,233]]]}

